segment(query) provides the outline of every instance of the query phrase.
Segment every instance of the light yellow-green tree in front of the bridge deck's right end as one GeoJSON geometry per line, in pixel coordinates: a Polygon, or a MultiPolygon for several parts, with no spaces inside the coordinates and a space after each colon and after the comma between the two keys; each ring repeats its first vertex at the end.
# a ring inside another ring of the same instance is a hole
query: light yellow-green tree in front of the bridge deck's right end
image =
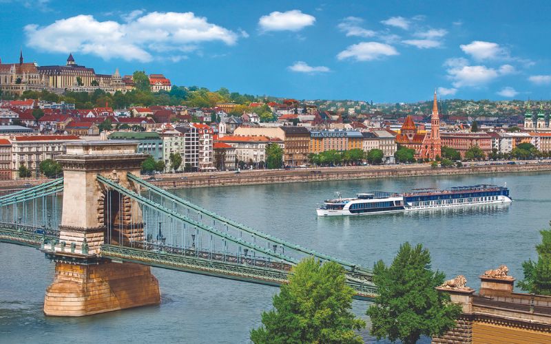
{"type": "Polygon", "coordinates": [[[293,268],[289,284],[273,297],[274,309],[262,313],[251,330],[253,343],[363,343],[355,333],[365,322],[350,311],[353,289],[344,269],[306,258],[293,268]]]}

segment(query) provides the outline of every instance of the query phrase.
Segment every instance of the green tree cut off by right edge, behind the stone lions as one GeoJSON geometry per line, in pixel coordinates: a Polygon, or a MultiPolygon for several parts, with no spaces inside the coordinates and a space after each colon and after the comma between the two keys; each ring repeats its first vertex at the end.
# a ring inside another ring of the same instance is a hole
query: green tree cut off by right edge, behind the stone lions
{"type": "MultiPolygon", "coordinates": [[[[549,223],[551,226],[551,222],[549,223]]],[[[541,244],[536,246],[538,260],[524,261],[524,279],[517,286],[527,292],[551,295],[551,230],[540,230],[541,244]]]]}

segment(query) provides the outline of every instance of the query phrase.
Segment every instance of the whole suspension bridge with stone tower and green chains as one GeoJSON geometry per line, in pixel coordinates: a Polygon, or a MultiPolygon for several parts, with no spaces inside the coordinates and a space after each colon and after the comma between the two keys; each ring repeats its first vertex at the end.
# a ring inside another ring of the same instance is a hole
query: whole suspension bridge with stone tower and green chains
{"type": "Polygon", "coordinates": [[[160,301],[151,266],[267,286],[287,283],[304,257],[344,268],[356,299],[371,271],[208,211],[142,180],[128,141],[67,146],[64,177],[0,197],[0,242],[56,262],[44,312],[81,316],[160,301]]]}

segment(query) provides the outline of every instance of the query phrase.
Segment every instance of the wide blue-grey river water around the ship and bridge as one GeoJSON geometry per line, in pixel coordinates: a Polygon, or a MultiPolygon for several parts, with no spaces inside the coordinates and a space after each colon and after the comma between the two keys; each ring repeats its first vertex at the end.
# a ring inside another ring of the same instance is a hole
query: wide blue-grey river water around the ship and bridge
{"type": "MultiPolygon", "coordinates": [[[[479,288],[484,270],[506,264],[522,277],[521,261],[535,257],[539,230],[551,219],[551,174],[514,173],[455,177],[355,180],[185,189],[173,192],[258,230],[371,268],[389,263],[404,241],[430,250],[433,268],[448,278],[465,275],[479,288]],[[340,191],[406,191],[507,182],[510,206],[457,208],[363,217],[315,216],[316,203],[340,191]]],[[[0,342],[2,343],[247,343],[249,330],[271,308],[277,288],[152,269],[162,303],[83,318],[45,317],[45,288],[54,264],[32,248],[0,244],[0,342]]],[[[368,321],[368,303],[354,301],[368,321]]],[[[371,341],[368,332],[362,332],[371,341]]],[[[428,341],[426,338],[425,341],[428,341]]]]}

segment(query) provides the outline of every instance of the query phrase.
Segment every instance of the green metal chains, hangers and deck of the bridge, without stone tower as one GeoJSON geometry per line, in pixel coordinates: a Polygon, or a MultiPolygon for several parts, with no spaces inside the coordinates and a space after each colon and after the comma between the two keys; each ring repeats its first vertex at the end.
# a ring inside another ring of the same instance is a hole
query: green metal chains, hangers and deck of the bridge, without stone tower
{"type": "MultiPolygon", "coordinates": [[[[59,178],[0,197],[0,242],[39,248],[50,259],[59,259],[58,253],[66,253],[66,261],[81,262],[83,259],[78,256],[83,255],[86,259],[128,261],[267,286],[286,283],[300,259],[315,257],[320,264],[334,261],[344,268],[346,282],[355,290],[356,299],[371,299],[376,292],[371,271],[357,264],[222,217],[132,173],[127,173],[127,179],[141,186],[140,193],[102,175],[96,178],[105,187],[105,202],[110,205],[118,202],[115,208],[121,209],[122,217],[132,218],[141,213],[141,223],[124,225],[130,235],[124,234],[123,228],[108,224],[105,241],[94,257],[90,257],[86,242],[78,247],[62,241],[59,197],[63,193],[63,178],[59,178]],[[139,209],[123,206],[121,195],[139,204],[139,209]],[[136,237],[133,230],[143,230],[141,239],[132,239],[136,237]]],[[[104,215],[112,216],[109,211],[104,215]]]]}

